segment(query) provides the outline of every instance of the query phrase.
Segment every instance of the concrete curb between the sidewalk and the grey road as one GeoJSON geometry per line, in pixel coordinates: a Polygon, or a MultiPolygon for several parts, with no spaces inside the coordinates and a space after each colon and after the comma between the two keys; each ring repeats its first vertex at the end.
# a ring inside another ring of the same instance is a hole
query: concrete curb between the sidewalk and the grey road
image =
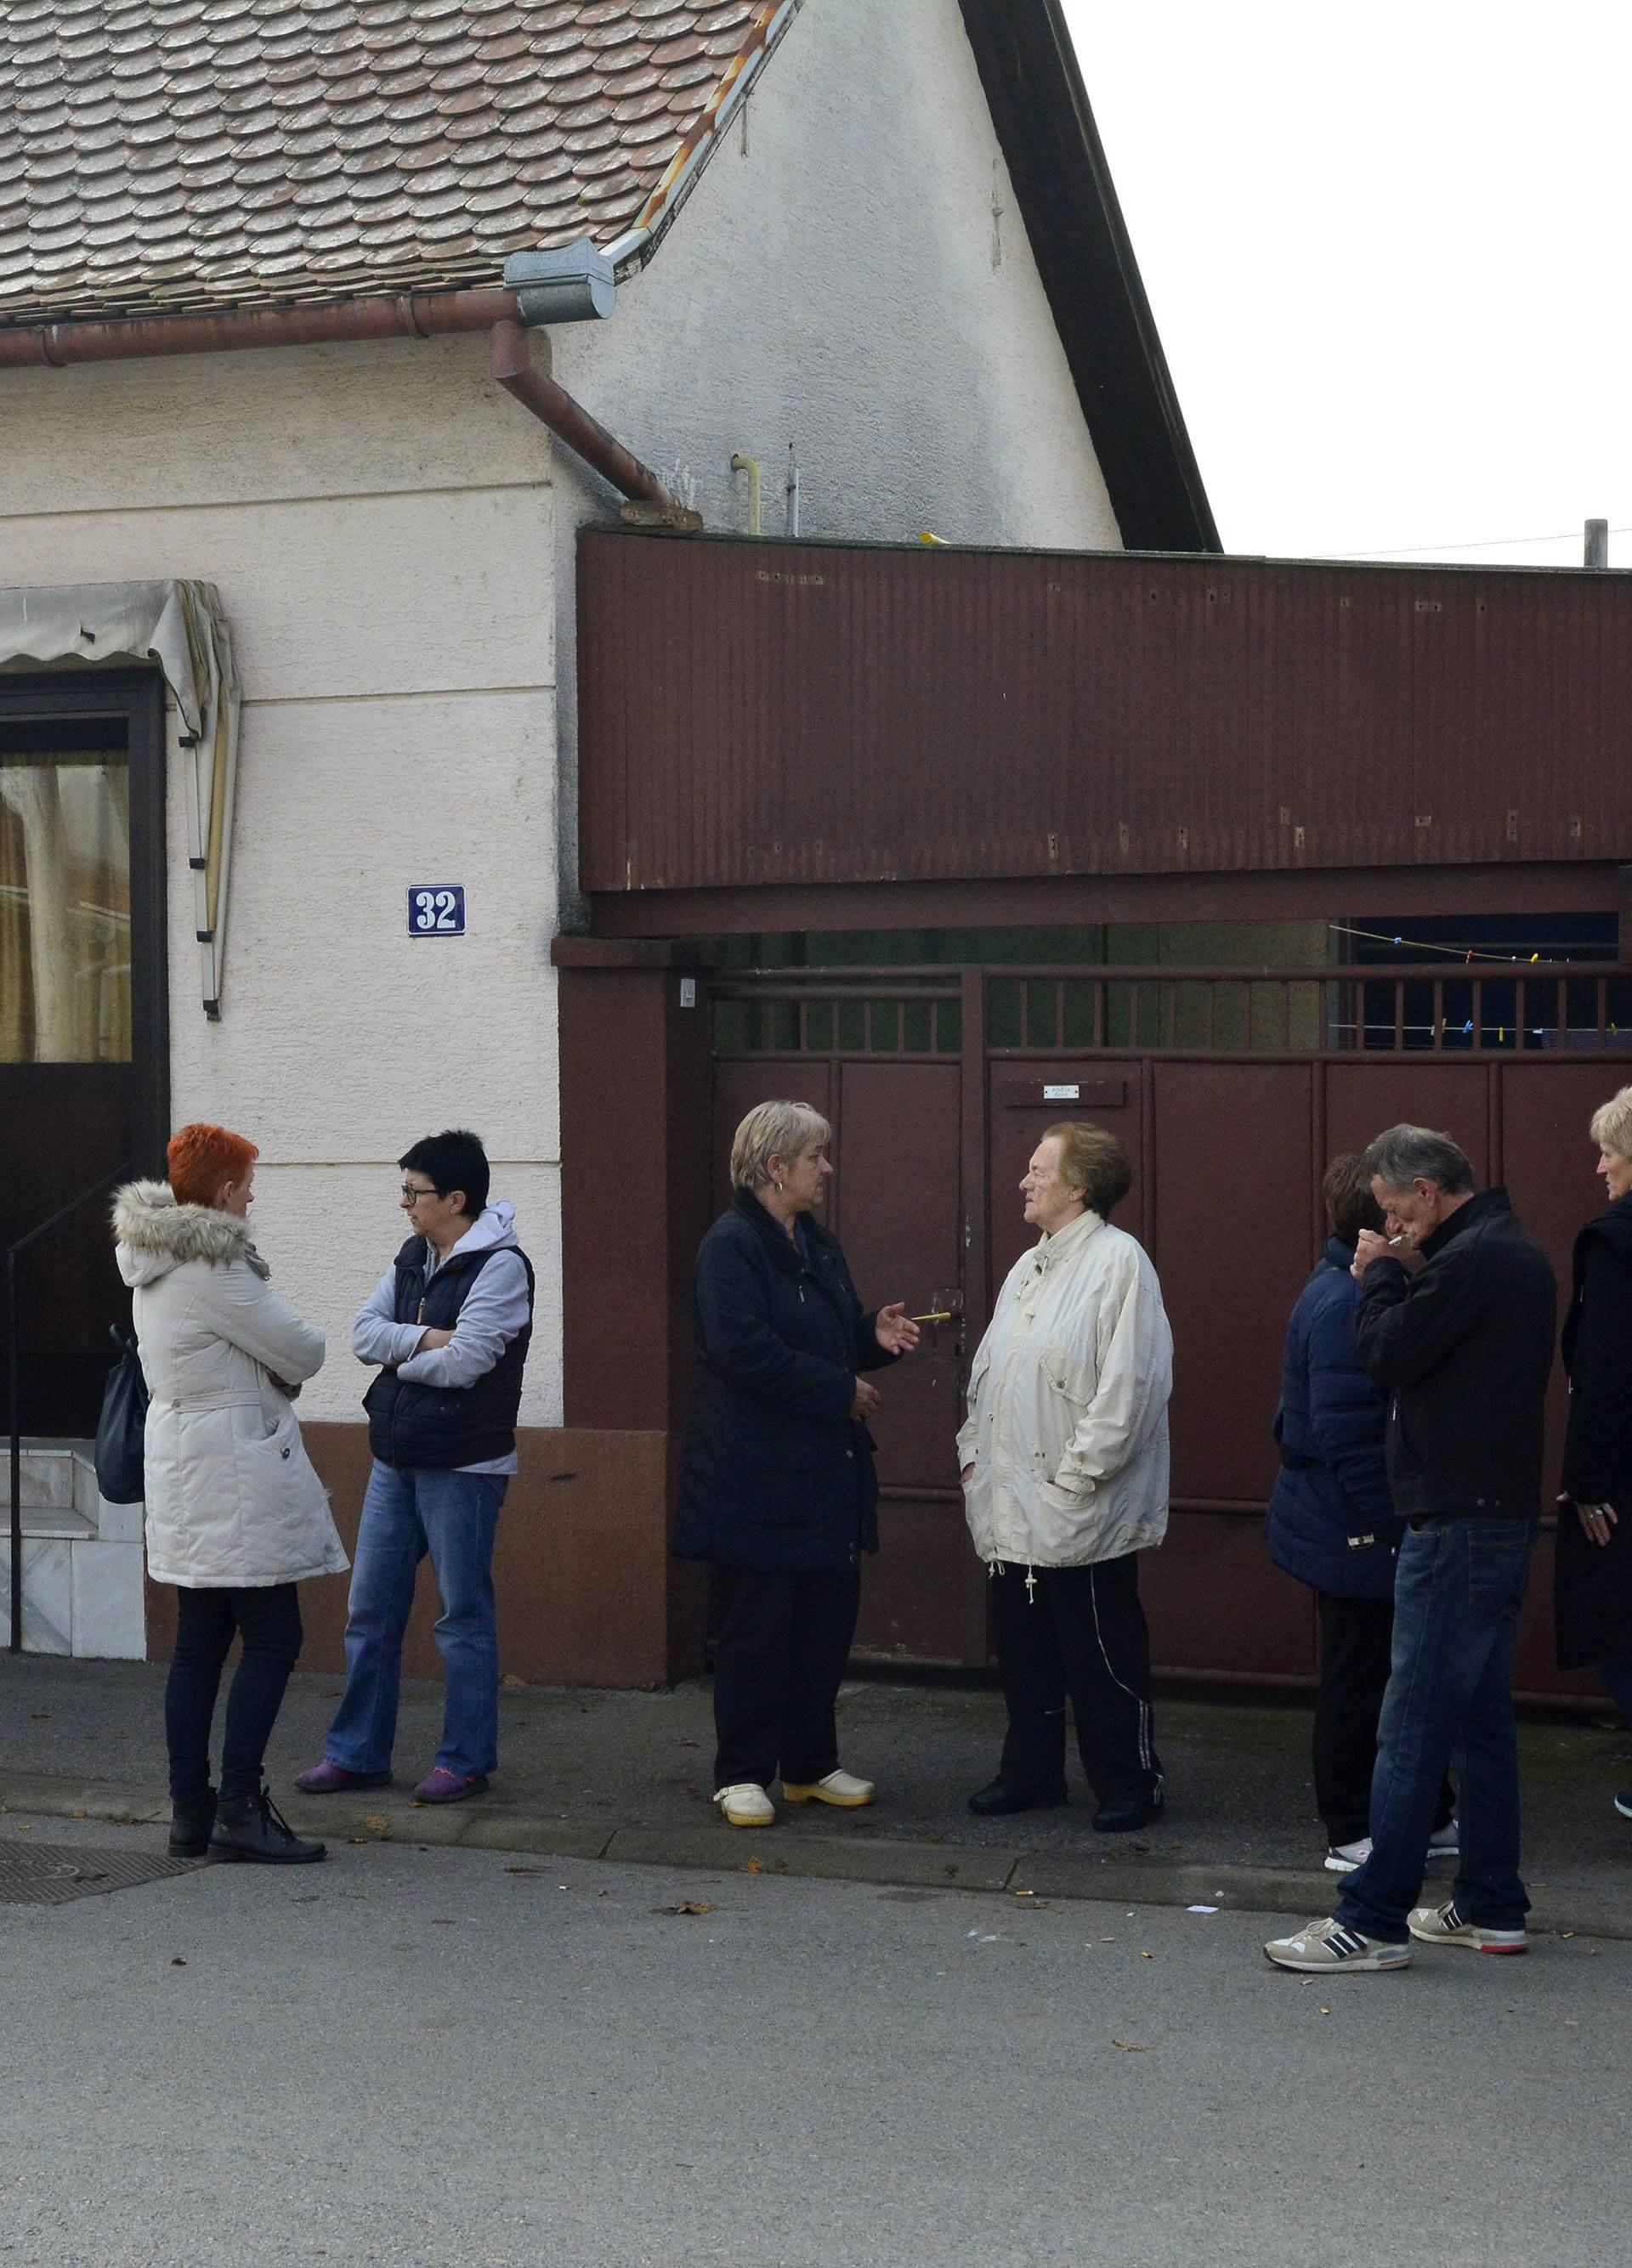
{"type": "MultiPolygon", "coordinates": [[[[708,1873],[767,1873],[822,1882],[878,1882],[908,1889],[965,1889],[1037,1901],[1083,1898],[1105,1905],[1212,1905],[1244,1914],[1330,1912],[1337,1878],[1294,1867],[1201,1867],[1062,1851],[1006,1851],[983,1844],[894,1842],[885,1835],[813,1835],[804,1826],[756,1828],[720,1821],[679,1826],[549,1819],[474,1799],[436,1808],[397,1789],[365,1796],[291,1796],[291,1826],[329,1842],[390,1842],[434,1851],[515,1851],[529,1857],[613,1860],[624,1867],[681,1867],[708,1873]],[[372,1801],[370,1801],[372,1799],[372,1801]]],[[[154,1826],[170,1817],[163,1787],[136,1780],[73,1780],[0,1774],[0,1812],[36,1819],[98,1819],[154,1826]]],[[[1448,1894],[1446,1882],[1446,1894],[1448,1894]]],[[[1632,1939],[1632,1889],[1548,1882],[1530,1912],[1537,1935],[1632,1939]]]]}

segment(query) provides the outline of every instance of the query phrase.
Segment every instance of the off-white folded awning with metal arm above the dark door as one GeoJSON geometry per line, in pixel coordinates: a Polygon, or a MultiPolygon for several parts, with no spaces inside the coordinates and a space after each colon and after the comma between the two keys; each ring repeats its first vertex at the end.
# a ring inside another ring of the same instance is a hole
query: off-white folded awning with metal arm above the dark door
{"type": "Polygon", "coordinates": [[[238,671],[213,583],[61,583],[0,590],[0,669],[157,662],[182,712],[186,853],[204,1014],[220,1016],[238,771],[238,671]]]}

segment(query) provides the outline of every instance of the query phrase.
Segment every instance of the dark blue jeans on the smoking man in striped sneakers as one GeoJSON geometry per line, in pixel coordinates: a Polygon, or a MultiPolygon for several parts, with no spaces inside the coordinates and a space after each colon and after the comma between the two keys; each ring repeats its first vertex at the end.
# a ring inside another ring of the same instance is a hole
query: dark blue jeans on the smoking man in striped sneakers
{"type": "Polygon", "coordinates": [[[1423,1889],[1446,1765],[1457,1758],[1464,1921],[1519,1930],[1519,1726],[1514,1637],[1534,1520],[1432,1520],[1407,1529],[1394,1576],[1394,1656],[1371,1778],[1371,1857],[1344,1876],[1337,1919],[1403,1944],[1423,1889]]]}

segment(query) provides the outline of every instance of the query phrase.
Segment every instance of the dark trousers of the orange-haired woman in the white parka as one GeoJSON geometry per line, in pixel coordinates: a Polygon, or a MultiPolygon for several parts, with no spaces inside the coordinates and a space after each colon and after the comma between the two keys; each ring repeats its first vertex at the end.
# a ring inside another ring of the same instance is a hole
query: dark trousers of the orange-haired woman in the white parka
{"type": "Polygon", "coordinates": [[[163,1733],[170,1744],[170,1801],[209,1794],[209,1728],[220,1669],[236,1633],[243,1660],[227,1694],[220,1744],[222,1796],[261,1792],[261,1762],[277,1724],[288,1672],[300,1660],[300,1599],[293,1583],[259,1590],[179,1590],[175,1658],[163,1687],[163,1733]]]}

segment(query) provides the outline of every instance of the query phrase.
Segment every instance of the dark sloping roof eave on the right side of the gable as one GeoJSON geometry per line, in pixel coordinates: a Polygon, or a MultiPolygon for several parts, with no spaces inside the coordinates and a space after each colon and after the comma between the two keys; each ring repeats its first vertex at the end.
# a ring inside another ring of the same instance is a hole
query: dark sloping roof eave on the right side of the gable
{"type": "Polygon", "coordinates": [[[1121,540],[1219,551],[1060,0],[958,0],[1121,540]]]}

